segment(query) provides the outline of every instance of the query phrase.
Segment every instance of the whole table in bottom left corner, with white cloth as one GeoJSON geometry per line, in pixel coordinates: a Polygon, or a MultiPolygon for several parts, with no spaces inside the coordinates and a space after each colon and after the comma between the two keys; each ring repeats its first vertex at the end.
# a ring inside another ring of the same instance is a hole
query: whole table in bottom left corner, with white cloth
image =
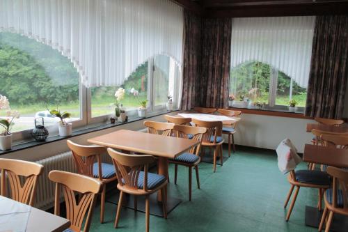
{"type": "Polygon", "coordinates": [[[61,232],[69,226],[68,219],[0,196],[0,231],[61,232]]]}

